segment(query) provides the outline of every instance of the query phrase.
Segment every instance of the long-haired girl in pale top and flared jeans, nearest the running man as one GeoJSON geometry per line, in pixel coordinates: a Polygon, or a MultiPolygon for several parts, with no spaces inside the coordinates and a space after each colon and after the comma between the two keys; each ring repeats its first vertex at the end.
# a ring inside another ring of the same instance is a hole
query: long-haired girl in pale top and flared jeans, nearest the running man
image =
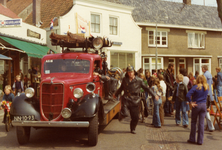
{"type": "Polygon", "coordinates": [[[159,96],[159,99],[153,99],[153,104],[154,104],[154,112],[153,112],[153,125],[156,128],[161,128],[161,122],[160,122],[160,115],[159,115],[159,108],[162,104],[162,87],[160,86],[160,80],[158,78],[154,79],[153,85],[152,85],[152,90],[154,94],[159,96]]]}

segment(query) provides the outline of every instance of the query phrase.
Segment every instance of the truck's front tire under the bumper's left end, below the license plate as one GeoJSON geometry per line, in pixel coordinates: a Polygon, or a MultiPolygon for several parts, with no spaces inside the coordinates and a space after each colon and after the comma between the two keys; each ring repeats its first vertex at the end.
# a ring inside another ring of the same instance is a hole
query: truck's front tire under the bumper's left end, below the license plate
{"type": "Polygon", "coordinates": [[[29,142],[30,127],[16,127],[17,140],[20,145],[24,145],[29,142]]]}

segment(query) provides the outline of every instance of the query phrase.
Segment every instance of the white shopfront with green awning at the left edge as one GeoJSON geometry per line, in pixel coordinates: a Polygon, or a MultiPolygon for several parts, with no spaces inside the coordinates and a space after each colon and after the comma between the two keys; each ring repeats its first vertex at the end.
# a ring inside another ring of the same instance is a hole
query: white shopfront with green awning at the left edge
{"type": "Polygon", "coordinates": [[[0,7],[0,54],[12,58],[1,61],[0,74],[4,77],[4,85],[12,85],[16,75],[21,72],[30,77],[28,70],[40,67],[41,58],[50,49],[46,46],[44,29],[24,23],[16,14],[9,15],[13,12],[6,6],[0,4],[0,7]]]}

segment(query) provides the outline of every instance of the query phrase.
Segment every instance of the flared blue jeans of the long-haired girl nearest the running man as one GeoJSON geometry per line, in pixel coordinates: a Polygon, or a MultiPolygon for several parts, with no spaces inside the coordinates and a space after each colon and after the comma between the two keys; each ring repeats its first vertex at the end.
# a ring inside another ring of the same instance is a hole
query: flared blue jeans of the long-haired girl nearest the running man
{"type": "Polygon", "coordinates": [[[161,122],[160,122],[159,108],[160,105],[162,104],[162,99],[159,99],[158,101],[156,99],[153,99],[153,103],[154,103],[153,125],[155,127],[160,127],[161,122]]]}

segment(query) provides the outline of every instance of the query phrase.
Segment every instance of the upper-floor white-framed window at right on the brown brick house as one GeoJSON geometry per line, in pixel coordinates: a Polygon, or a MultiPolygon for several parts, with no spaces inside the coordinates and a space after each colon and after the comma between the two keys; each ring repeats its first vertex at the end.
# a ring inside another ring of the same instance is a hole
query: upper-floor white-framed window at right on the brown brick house
{"type": "Polygon", "coordinates": [[[188,32],[188,48],[204,48],[205,33],[188,32]]]}

